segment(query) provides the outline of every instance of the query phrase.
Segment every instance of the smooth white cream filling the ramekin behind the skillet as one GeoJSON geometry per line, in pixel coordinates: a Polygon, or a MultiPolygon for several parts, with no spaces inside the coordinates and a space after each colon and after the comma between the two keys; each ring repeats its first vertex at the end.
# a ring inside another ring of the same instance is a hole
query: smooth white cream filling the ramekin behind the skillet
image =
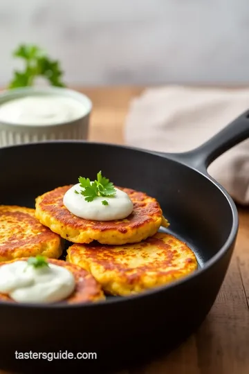
{"type": "Polygon", "coordinates": [[[80,101],[59,95],[26,96],[0,105],[0,121],[15,125],[55,125],[84,116],[80,101]]]}

